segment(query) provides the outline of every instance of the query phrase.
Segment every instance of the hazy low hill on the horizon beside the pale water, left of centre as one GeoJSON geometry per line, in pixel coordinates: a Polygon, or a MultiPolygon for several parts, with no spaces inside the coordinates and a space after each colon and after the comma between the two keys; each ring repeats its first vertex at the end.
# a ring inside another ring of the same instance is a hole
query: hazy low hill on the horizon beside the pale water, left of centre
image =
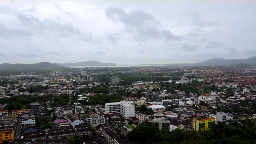
{"type": "Polygon", "coordinates": [[[76,62],[76,63],[64,63],[64,64],[58,64],[59,66],[117,66],[114,63],[101,63],[95,60],[86,61],[86,62],[76,62]]]}

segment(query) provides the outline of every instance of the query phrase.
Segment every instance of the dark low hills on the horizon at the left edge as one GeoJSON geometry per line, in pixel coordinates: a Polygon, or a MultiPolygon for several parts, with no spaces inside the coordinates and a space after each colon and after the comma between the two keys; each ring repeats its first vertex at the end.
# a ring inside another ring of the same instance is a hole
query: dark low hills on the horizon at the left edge
{"type": "Polygon", "coordinates": [[[51,64],[50,62],[39,62],[37,64],[0,64],[1,70],[17,70],[17,69],[45,69],[45,68],[65,68],[64,66],[59,66],[58,64],[51,64]]]}

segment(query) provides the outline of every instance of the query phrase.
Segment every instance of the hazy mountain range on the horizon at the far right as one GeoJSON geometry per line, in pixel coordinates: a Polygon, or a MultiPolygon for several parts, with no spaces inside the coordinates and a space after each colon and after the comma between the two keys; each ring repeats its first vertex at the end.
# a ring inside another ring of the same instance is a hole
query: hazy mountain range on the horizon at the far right
{"type": "Polygon", "coordinates": [[[194,65],[216,65],[216,66],[227,66],[227,65],[236,65],[236,64],[256,64],[256,56],[247,58],[247,59],[230,59],[226,60],[224,58],[212,58],[210,60],[206,60],[204,62],[198,62],[194,65]]]}

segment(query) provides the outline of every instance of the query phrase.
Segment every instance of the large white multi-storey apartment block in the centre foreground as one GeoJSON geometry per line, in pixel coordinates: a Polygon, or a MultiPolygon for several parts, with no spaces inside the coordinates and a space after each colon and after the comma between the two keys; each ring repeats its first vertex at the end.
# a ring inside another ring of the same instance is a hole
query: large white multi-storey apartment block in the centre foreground
{"type": "Polygon", "coordinates": [[[105,112],[106,114],[121,114],[126,118],[135,116],[135,108],[133,102],[127,102],[125,100],[120,102],[106,103],[105,112]]]}

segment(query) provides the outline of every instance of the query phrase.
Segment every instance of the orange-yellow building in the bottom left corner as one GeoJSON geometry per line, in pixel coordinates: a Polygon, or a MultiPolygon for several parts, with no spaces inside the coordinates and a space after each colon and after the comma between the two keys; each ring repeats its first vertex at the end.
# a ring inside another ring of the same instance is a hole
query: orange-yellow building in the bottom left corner
{"type": "Polygon", "coordinates": [[[0,143],[4,140],[12,142],[14,140],[13,128],[8,128],[8,126],[0,129],[0,143]]]}

